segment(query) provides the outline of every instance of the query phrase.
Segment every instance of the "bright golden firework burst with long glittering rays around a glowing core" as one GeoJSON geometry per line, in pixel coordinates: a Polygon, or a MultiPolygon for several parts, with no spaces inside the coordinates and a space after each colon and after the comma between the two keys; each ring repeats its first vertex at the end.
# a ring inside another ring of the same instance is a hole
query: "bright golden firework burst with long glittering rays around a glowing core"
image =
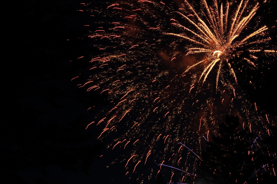
{"type": "MultiPolygon", "coordinates": [[[[228,60],[232,57],[232,53],[236,48],[243,47],[245,45],[260,43],[265,40],[254,41],[252,43],[247,42],[251,37],[254,37],[257,34],[264,34],[263,31],[267,30],[266,26],[259,28],[258,30],[252,32],[247,36],[241,36],[241,33],[246,28],[250,20],[256,14],[259,3],[251,7],[248,5],[248,0],[242,0],[239,5],[236,7],[236,11],[234,14],[229,15],[229,2],[226,2],[226,10],[223,10],[223,3],[220,5],[220,9],[218,8],[218,4],[216,1],[213,3],[213,8],[208,7],[207,2],[202,0],[202,3],[205,7],[207,13],[203,13],[205,20],[208,22],[206,24],[200,16],[195,12],[192,6],[185,0],[185,5],[188,7],[188,10],[192,12],[189,16],[195,16],[196,21],[191,20],[188,16],[177,11],[182,17],[184,17],[193,27],[197,30],[197,32],[192,31],[189,28],[181,24],[176,24],[180,28],[186,30],[194,36],[195,39],[191,39],[190,36],[184,36],[183,34],[175,34],[175,33],[164,33],[168,35],[174,35],[186,39],[199,47],[189,48],[188,54],[196,54],[196,53],[205,53],[207,59],[202,60],[192,66],[190,66],[184,73],[188,72],[190,68],[199,65],[203,62],[207,63],[207,66],[204,68],[201,76],[199,77],[199,81],[203,77],[203,83],[205,82],[209,72],[211,72],[212,68],[218,64],[218,71],[216,77],[216,89],[218,87],[218,80],[220,77],[222,64],[227,64],[229,66],[229,72],[234,76],[235,81],[237,82],[235,72],[233,68],[231,68],[231,64],[228,63],[228,60]],[[246,14],[245,16],[242,16],[246,14]],[[207,62],[208,61],[208,62],[207,62]]],[[[253,50],[251,50],[253,51],[253,50]]],[[[266,52],[275,52],[274,50],[266,50],[266,52]]],[[[250,64],[250,60],[245,59],[250,64]]],[[[254,64],[253,64],[254,65],[254,64]]]]}

